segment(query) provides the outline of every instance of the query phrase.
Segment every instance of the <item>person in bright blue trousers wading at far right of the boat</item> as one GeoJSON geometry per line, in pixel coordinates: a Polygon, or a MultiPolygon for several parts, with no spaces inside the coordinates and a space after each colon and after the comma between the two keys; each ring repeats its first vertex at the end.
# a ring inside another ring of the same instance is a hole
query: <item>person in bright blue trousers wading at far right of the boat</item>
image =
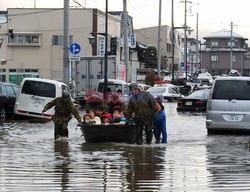
{"type": "Polygon", "coordinates": [[[167,143],[167,126],[166,126],[166,114],[164,106],[162,105],[162,96],[158,96],[157,102],[157,115],[154,119],[154,136],[156,143],[167,143]],[[162,139],[160,140],[162,135],[162,139]]]}

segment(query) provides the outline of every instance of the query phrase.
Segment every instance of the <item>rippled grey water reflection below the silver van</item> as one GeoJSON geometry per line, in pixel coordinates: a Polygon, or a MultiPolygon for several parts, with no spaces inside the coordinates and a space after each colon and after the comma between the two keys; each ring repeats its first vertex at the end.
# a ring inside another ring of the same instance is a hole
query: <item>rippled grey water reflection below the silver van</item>
{"type": "Polygon", "coordinates": [[[213,136],[206,145],[209,187],[213,191],[250,189],[250,153],[245,150],[244,136],[213,136]]]}

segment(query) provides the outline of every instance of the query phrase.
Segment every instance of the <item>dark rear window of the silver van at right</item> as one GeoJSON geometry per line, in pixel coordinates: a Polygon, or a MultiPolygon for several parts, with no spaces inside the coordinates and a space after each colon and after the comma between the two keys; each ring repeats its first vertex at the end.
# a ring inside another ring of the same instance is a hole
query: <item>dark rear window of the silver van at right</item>
{"type": "Polygon", "coordinates": [[[250,100],[250,81],[219,80],[213,90],[213,99],[223,100],[250,100]]]}

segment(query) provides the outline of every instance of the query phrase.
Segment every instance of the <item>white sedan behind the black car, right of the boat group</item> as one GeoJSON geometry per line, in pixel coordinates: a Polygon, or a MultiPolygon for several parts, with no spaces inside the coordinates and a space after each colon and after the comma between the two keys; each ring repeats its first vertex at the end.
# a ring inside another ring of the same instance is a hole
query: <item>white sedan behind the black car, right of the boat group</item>
{"type": "Polygon", "coordinates": [[[157,98],[159,95],[161,95],[163,96],[163,99],[167,101],[176,101],[179,98],[184,97],[179,93],[176,86],[171,84],[166,86],[151,87],[147,91],[149,91],[154,96],[154,98],[157,98]]]}

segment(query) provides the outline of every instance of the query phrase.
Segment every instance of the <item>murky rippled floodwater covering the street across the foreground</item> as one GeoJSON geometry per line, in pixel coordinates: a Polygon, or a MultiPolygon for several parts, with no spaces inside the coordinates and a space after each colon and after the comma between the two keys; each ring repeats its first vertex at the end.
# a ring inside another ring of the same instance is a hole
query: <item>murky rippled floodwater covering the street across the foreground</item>
{"type": "Polygon", "coordinates": [[[249,191],[249,136],[207,136],[204,114],[166,103],[168,144],[87,144],[70,122],[0,124],[0,191],[249,191]]]}

